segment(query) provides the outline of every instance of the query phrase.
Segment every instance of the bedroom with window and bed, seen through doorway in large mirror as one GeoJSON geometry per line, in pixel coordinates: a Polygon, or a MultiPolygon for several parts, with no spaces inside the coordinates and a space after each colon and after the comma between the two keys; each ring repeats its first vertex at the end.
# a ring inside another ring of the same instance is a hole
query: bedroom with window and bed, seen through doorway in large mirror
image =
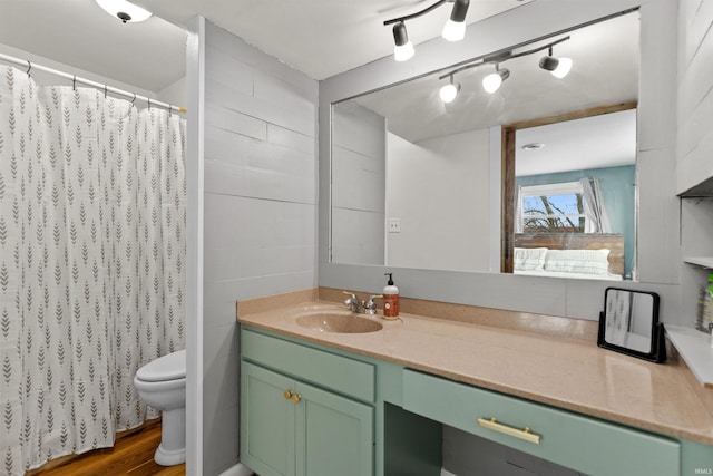
{"type": "Polygon", "coordinates": [[[505,222],[511,224],[504,230],[505,243],[511,245],[504,250],[504,271],[614,281],[632,278],[633,107],[634,103],[599,107],[578,113],[583,116],[578,119],[567,115],[569,120],[504,128],[504,208],[505,222]],[[512,140],[515,146],[508,147],[512,140]]]}

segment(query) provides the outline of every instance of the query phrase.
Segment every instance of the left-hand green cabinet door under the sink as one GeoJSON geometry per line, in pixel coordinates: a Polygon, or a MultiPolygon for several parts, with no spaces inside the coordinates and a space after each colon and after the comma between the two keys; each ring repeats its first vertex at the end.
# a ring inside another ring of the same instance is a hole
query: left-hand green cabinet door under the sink
{"type": "Polygon", "coordinates": [[[294,380],[243,362],[241,385],[241,460],[261,476],[293,476],[294,380]]]}

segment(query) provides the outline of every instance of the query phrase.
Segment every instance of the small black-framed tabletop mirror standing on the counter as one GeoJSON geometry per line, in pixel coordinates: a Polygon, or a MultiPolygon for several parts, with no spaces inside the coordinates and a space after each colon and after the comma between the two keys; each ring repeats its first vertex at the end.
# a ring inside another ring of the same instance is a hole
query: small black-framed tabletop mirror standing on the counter
{"type": "Polygon", "coordinates": [[[599,319],[599,347],[661,361],[658,294],[607,288],[599,319]]]}

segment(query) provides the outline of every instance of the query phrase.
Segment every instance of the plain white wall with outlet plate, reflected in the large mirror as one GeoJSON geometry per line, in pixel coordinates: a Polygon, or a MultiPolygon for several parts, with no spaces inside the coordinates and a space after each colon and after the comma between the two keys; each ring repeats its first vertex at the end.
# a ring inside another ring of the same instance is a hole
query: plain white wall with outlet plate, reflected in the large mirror
{"type": "Polygon", "coordinates": [[[489,134],[417,144],[389,134],[387,220],[399,218],[401,232],[387,235],[387,265],[488,271],[489,134]]]}

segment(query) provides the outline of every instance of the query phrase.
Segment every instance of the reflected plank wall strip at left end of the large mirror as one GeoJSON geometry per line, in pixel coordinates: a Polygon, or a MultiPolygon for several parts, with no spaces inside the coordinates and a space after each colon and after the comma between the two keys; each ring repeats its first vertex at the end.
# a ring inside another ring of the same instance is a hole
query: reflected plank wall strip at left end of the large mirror
{"type": "Polygon", "coordinates": [[[352,101],[334,107],[332,259],[384,260],[385,119],[352,101]]]}

